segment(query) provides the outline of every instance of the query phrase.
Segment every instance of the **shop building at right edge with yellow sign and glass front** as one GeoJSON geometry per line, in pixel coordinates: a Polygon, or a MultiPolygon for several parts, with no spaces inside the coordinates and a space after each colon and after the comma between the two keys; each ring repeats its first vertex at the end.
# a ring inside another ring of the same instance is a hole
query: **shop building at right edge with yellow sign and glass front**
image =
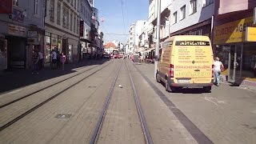
{"type": "Polygon", "coordinates": [[[254,0],[215,1],[214,48],[229,82],[256,86],[254,0]]]}

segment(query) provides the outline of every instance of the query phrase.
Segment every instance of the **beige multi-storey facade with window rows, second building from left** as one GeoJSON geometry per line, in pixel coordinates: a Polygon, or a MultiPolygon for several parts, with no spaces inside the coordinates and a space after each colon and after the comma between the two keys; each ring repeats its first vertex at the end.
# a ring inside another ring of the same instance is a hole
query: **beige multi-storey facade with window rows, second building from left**
{"type": "Polygon", "coordinates": [[[78,62],[80,0],[47,0],[45,18],[45,62],[56,50],[66,54],[66,62],[78,62]]]}

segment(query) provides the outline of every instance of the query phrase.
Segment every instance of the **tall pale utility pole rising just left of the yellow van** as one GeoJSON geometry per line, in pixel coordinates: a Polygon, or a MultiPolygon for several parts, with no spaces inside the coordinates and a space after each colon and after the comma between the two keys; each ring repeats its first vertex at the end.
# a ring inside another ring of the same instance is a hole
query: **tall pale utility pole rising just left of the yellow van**
{"type": "Polygon", "coordinates": [[[159,40],[160,40],[160,15],[161,15],[161,0],[158,0],[158,18],[157,18],[157,44],[155,46],[154,56],[154,78],[156,78],[159,61],[159,40]]]}

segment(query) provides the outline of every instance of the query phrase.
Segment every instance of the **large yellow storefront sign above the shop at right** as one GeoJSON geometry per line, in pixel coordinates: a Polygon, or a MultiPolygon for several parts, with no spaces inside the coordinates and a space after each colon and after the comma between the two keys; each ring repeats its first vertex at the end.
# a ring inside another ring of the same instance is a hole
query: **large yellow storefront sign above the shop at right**
{"type": "Polygon", "coordinates": [[[243,18],[214,28],[214,44],[245,42],[246,27],[254,26],[253,17],[243,18]]]}

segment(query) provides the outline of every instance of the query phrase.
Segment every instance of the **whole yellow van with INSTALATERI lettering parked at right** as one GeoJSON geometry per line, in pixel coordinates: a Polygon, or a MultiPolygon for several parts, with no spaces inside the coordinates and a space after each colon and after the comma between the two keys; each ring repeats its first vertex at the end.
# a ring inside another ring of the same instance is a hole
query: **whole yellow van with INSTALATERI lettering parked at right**
{"type": "Polygon", "coordinates": [[[160,50],[157,82],[165,82],[166,90],[202,87],[210,92],[214,83],[214,54],[210,38],[179,35],[167,38],[160,50]]]}

